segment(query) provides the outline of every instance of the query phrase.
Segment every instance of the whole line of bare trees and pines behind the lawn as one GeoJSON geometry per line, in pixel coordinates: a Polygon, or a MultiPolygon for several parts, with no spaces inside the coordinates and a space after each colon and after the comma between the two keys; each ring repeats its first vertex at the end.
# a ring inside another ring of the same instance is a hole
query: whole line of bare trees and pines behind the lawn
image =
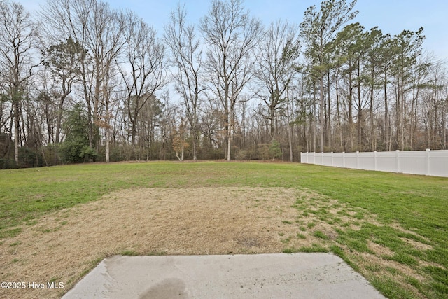
{"type": "Polygon", "coordinates": [[[354,22],[325,0],[263,25],[241,0],[156,32],[100,0],[0,0],[0,168],[274,159],[448,146],[443,60],[423,28],[354,22]]]}

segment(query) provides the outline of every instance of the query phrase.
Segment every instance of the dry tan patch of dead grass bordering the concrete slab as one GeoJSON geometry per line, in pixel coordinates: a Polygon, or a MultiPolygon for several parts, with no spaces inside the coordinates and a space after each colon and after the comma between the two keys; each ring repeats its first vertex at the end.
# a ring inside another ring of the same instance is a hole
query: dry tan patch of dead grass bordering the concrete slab
{"type": "MultiPolygon", "coordinates": [[[[0,298],[57,298],[113,254],[278,253],[318,239],[300,231],[293,188],[160,188],[111,193],[49,214],[0,243],[3,281],[64,290],[0,290],[0,298]],[[302,237],[297,237],[297,234],[302,237]],[[306,235],[306,237],[303,237],[306,235]]],[[[317,223],[314,230],[322,229],[317,223]]],[[[328,229],[328,228],[326,228],[328,229]]]]}

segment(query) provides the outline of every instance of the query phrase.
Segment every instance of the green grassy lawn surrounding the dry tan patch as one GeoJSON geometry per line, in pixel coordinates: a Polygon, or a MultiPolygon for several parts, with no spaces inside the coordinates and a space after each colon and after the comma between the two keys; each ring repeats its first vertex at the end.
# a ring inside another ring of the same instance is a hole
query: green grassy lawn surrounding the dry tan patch
{"type": "MultiPolygon", "coordinates": [[[[126,188],[281,187],[297,198],[297,235],[283,252],[332,251],[388,298],[448,298],[448,179],[262,162],[150,162],[0,170],[0,244],[50,211],[126,188]],[[305,238],[313,215],[330,230],[305,238]],[[349,221],[347,221],[349,219],[349,221]]],[[[283,242],[282,241],[282,242],[283,242]]]]}

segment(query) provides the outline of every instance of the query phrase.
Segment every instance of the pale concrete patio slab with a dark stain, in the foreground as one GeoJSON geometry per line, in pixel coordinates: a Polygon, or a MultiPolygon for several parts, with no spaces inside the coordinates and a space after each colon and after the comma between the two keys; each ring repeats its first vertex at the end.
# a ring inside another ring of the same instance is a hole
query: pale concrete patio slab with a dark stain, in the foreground
{"type": "Polygon", "coordinates": [[[384,298],[329,253],[111,256],[63,297],[384,298]]]}

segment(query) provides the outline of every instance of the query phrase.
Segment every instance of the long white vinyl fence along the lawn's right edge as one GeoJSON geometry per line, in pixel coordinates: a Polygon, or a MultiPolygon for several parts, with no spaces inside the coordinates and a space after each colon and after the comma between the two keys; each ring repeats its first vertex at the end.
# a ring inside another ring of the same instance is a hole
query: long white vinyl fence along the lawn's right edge
{"type": "Polygon", "coordinates": [[[300,153],[300,162],[381,172],[448,177],[448,150],[300,153]]]}

